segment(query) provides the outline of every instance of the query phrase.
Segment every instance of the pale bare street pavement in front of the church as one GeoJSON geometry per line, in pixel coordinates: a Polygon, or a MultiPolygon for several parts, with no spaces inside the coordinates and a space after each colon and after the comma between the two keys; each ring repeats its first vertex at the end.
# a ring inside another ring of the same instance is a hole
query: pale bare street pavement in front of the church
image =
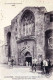
{"type": "Polygon", "coordinates": [[[40,70],[32,72],[31,67],[0,64],[0,80],[53,80],[53,73],[46,75],[40,70]]]}

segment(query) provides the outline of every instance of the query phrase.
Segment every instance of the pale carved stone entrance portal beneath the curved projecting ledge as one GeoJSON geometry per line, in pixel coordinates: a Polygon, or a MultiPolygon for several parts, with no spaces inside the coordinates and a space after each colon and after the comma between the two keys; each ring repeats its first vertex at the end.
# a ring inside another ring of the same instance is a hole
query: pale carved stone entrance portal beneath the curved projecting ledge
{"type": "Polygon", "coordinates": [[[36,56],[35,47],[36,47],[35,41],[31,39],[18,43],[18,65],[19,66],[32,65],[32,58],[36,56]]]}

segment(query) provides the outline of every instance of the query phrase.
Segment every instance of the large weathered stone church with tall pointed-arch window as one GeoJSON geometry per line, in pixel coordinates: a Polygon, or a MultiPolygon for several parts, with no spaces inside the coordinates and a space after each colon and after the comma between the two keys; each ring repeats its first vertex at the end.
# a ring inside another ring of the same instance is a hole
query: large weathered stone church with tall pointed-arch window
{"type": "MultiPolygon", "coordinates": [[[[13,14],[13,13],[12,13],[13,14]]],[[[53,11],[45,7],[26,7],[4,28],[5,55],[16,65],[32,59],[50,59],[53,64],[53,11]]]]}

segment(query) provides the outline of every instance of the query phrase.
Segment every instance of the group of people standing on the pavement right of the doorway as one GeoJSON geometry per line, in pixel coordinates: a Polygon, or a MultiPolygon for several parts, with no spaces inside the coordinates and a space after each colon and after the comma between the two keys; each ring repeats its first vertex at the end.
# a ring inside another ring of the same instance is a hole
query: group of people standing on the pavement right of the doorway
{"type": "Polygon", "coordinates": [[[40,69],[44,72],[44,73],[49,73],[51,70],[51,61],[50,60],[42,60],[40,62],[40,65],[37,64],[37,60],[32,63],[32,71],[37,69],[37,67],[40,66],[40,69]]]}

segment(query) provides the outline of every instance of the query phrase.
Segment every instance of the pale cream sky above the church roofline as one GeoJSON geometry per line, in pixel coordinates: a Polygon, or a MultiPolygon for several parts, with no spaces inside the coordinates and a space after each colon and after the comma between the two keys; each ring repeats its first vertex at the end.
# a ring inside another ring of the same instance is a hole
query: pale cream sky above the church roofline
{"type": "Polygon", "coordinates": [[[53,11],[53,0],[0,0],[0,40],[4,41],[4,27],[25,7],[41,7],[53,11]]]}

